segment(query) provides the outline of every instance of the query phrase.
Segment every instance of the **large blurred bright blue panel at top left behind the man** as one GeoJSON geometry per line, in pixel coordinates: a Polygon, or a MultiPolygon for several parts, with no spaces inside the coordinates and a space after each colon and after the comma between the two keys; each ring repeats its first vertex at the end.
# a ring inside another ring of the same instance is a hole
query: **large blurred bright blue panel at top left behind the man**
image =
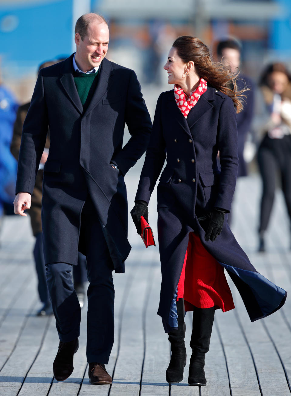
{"type": "MultiPolygon", "coordinates": [[[[91,0],[91,8],[96,3],[91,0]]],[[[11,67],[19,76],[43,61],[70,55],[73,6],[73,0],[0,4],[2,67],[11,67]]]]}

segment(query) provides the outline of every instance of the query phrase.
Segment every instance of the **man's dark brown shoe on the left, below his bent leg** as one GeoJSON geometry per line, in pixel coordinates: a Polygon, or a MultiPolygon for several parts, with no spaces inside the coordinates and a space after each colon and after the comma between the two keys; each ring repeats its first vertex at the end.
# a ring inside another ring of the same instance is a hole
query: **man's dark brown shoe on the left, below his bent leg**
{"type": "Polygon", "coordinates": [[[77,338],[68,343],[60,341],[59,350],[53,362],[53,375],[57,381],[64,381],[72,374],[74,370],[74,353],[77,352],[78,348],[79,342],[77,338]]]}

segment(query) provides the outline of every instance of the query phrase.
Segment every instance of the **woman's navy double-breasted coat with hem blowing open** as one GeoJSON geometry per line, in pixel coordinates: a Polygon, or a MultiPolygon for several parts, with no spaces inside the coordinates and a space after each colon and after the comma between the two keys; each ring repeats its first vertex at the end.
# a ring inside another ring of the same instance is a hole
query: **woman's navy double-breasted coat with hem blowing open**
{"type": "Polygon", "coordinates": [[[177,285],[188,245],[196,232],[203,246],[227,270],[251,321],[271,314],[285,302],[287,293],[249,262],[236,242],[227,215],[221,234],[206,242],[198,217],[212,208],[231,210],[238,169],[236,114],[227,95],[208,86],[187,119],[176,105],[174,91],[160,95],[151,140],[146,152],[136,200],[149,202],[157,187],[158,238],[162,284],[158,314],[165,331],[178,326],[177,285]],[[221,171],[217,167],[217,152],[221,171]]]}

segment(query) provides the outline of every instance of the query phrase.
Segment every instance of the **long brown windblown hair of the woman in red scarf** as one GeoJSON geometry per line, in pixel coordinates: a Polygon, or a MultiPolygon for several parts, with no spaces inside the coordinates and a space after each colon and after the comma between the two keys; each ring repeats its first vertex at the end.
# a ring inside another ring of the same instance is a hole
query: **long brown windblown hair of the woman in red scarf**
{"type": "Polygon", "coordinates": [[[238,89],[236,78],[239,71],[232,73],[230,67],[219,62],[212,62],[209,48],[197,37],[178,37],[173,47],[177,49],[177,53],[184,63],[194,62],[195,72],[200,78],[204,78],[207,84],[231,97],[237,113],[243,110],[243,98],[246,97],[243,93],[249,88],[245,86],[243,89],[238,89]]]}

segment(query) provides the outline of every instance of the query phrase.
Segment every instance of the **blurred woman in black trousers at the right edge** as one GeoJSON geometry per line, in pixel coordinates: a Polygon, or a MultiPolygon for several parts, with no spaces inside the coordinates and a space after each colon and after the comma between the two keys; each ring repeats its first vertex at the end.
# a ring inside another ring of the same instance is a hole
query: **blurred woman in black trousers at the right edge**
{"type": "Polygon", "coordinates": [[[263,72],[260,86],[267,113],[257,153],[263,181],[259,251],[265,251],[278,175],[291,221],[291,74],[283,63],[273,63],[263,72]]]}

